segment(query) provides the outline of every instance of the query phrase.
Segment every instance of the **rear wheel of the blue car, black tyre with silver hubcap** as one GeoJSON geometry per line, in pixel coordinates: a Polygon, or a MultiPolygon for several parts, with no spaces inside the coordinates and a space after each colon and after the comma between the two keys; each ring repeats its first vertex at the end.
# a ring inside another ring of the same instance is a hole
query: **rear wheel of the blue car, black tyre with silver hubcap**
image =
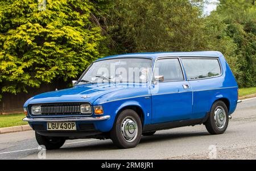
{"type": "Polygon", "coordinates": [[[223,134],[229,124],[228,107],[222,101],[214,102],[205,127],[210,134],[223,134]]]}

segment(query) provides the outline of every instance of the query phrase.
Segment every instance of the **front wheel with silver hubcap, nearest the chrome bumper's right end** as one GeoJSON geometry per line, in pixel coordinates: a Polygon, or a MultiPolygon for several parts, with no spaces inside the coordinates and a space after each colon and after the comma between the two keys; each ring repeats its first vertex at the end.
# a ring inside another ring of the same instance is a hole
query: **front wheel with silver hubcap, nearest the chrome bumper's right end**
{"type": "Polygon", "coordinates": [[[142,124],[137,112],[131,109],[123,110],[110,131],[110,137],[119,148],[133,148],[141,140],[142,124]]]}

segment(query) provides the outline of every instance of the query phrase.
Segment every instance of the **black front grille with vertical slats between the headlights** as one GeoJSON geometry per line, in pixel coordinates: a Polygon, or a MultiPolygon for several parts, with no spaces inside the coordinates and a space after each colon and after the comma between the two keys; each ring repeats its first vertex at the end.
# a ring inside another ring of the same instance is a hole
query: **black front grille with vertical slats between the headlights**
{"type": "Polygon", "coordinates": [[[40,106],[42,107],[42,115],[76,115],[81,114],[81,104],[84,103],[47,103],[40,106]]]}

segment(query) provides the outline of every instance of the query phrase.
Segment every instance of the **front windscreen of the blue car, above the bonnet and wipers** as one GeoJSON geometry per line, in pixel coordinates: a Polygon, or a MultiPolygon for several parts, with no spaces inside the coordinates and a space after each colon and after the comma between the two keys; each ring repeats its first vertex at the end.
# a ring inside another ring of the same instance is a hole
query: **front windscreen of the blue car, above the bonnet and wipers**
{"type": "Polygon", "coordinates": [[[123,58],[93,62],[77,84],[96,82],[147,82],[151,59],[123,58]]]}

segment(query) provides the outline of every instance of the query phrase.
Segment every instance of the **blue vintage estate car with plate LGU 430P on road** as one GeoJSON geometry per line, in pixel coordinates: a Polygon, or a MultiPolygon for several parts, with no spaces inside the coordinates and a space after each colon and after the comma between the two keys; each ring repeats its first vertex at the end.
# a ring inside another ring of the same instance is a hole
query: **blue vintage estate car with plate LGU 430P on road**
{"type": "Polygon", "coordinates": [[[238,103],[237,82],[216,51],[104,57],[72,82],[24,103],[23,120],[46,149],[80,138],[132,148],[142,135],[196,124],[222,134],[238,103]]]}

